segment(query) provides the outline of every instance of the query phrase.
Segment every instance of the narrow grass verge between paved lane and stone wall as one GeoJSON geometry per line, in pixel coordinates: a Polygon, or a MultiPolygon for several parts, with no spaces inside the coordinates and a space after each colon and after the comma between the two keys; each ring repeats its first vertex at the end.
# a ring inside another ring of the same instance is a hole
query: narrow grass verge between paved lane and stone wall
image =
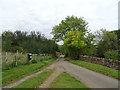
{"type": "Polygon", "coordinates": [[[105,67],[102,65],[88,63],[88,62],[80,61],[80,60],[79,61],[78,60],[69,60],[69,62],[79,65],[79,66],[82,66],[82,67],[85,67],[87,69],[96,71],[96,72],[103,73],[103,74],[111,76],[113,78],[120,79],[120,77],[118,76],[119,70],[115,70],[115,69],[108,68],[108,67],[105,67]]]}

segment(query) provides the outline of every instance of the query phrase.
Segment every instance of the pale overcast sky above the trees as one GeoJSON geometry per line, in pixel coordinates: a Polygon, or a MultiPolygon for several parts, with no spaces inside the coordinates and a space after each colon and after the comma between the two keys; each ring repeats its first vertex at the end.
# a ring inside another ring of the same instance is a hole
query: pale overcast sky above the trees
{"type": "Polygon", "coordinates": [[[67,16],[84,17],[89,30],[118,29],[119,0],[0,0],[0,30],[39,31],[47,38],[67,16]]]}

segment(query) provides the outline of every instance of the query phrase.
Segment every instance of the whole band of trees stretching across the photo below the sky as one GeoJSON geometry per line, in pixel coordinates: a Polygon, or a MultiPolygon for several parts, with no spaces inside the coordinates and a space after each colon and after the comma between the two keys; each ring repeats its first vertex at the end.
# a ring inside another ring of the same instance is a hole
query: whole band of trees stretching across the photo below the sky
{"type": "Polygon", "coordinates": [[[53,27],[51,34],[52,40],[35,31],[5,31],[2,33],[2,50],[52,55],[61,52],[72,59],[79,59],[80,55],[120,58],[120,30],[100,29],[93,34],[83,17],[67,16],[53,27]],[[64,44],[57,45],[59,41],[64,44]]]}

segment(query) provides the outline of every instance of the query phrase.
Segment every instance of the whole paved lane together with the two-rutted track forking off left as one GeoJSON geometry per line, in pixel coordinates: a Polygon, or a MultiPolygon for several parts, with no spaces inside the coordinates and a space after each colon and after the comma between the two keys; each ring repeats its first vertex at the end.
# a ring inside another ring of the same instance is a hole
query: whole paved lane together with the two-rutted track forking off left
{"type": "MultiPolygon", "coordinates": [[[[74,65],[72,63],[69,63],[68,61],[64,61],[63,56],[59,57],[54,64],[50,65],[45,69],[55,69],[55,71],[50,77],[48,77],[48,79],[43,82],[43,84],[39,86],[39,88],[48,88],[52,81],[62,72],[69,73],[71,76],[75,77],[77,80],[80,80],[89,88],[118,88],[117,79],[74,65]]],[[[41,73],[42,71],[38,73],[41,73]]],[[[25,81],[26,79],[37,75],[38,73],[25,77],[20,81],[10,84],[6,87],[11,88],[13,86],[16,86],[25,81]]]]}

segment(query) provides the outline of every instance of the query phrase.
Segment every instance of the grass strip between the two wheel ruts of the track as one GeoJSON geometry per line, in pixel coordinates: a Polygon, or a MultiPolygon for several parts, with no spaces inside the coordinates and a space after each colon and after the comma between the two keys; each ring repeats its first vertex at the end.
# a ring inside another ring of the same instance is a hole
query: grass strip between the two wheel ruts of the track
{"type": "Polygon", "coordinates": [[[19,84],[18,86],[15,86],[13,88],[35,88],[35,87],[38,87],[48,76],[51,75],[52,72],[53,72],[53,70],[46,70],[46,71],[38,74],[35,77],[27,79],[23,83],[19,84]]]}

